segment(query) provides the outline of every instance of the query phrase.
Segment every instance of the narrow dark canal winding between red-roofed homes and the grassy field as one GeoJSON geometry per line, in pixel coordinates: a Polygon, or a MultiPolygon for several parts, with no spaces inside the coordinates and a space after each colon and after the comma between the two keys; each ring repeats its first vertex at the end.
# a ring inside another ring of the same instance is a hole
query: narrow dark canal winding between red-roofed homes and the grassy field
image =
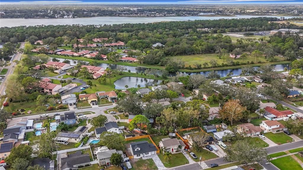
{"type": "MultiPolygon", "coordinates": [[[[52,57],[51,57],[52,59],[52,57]]],[[[62,58],[57,58],[60,62],[63,62],[65,59],[62,59],[62,58]]],[[[76,65],[78,63],[78,60],[70,60],[71,61],[71,65],[76,65]],[[76,62],[76,64],[74,64],[74,61],[76,62]]],[[[103,68],[111,68],[111,69],[116,69],[117,68],[117,64],[106,64],[106,63],[101,63],[99,65],[99,67],[103,67],[103,68]]],[[[133,67],[133,66],[124,66],[127,70],[131,70],[132,73],[136,73],[138,71],[138,73],[140,73],[141,71],[144,72],[146,69],[148,68],[145,68],[145,67],[133,67]]],[[[244,66],[243,66],[244,67],[244,66]]],[[[278,64],[278,65],[275,65],[275,71],[283,71],[284,68],[287,67],[289,68],[289,65],[288,64],[278,64]]],[[[255,69],[259,68],[259,67],[254,67],[255,69]]],[[[190,74],[202,74],[202,75],[207,75],[210,71],[202,71],[202,72],[195,72],[195,73],[189,73],[189,72],[181,72],[183,74],[187,74],[187,75],[190,75],[190,74]]],[[[218,74],[220,74],[221,77],[226,77],[226,75],[228,73],[233,73],[233,76],[239,76],[242,72],[242,69],[241,68],[235,68],[235,69],[228,69],[228,70],[217,70],[216,72],[218,72],[218,74]]],[[[169,76],[172,77],[172,76],[176,76],[177,75],[177,72],[173,72],[173,73],[169,73],[169,76]]],[[[144,85],[145,86],[145,85],[144,85]]]]}

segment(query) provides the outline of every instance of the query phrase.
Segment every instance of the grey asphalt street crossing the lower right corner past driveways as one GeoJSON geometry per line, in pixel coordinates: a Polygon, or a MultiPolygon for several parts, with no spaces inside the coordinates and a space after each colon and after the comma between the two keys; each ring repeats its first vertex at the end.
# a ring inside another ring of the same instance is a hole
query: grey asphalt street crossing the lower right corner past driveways
{"type": "MultiPolygon", "coordinates": [[[[295,149],[295,148],[299,148],[299,147],[303,147],[303,140],[300,140],[297,142],[286,143],[283,145],[268,147],[268,148],[266,148],[266,150],[267,150],[268,154],[272,154],[272,153],[287,151],[287,150],[295,149]]],[[[199,163],[200,162],[194,163],[194,164],[188,164],[188,165],[184,165],[184,166],[180,166],[180,167],[170,168],[170,169],[172,169],[172,170],[187,170],[187,169],[198,170],[198,169],[200,169],[199,163]]],[[[210,164],[214,164],[214,163],[216,163],[218,165],[223,165],[223,164],[227,164],[227,163],[231,163],[231,162],[227,162],[224,160],[224,158],[220,157],[217,159],[205,161],[205,163],[209,167],[210,164]]],[[[279,170],[271,163],[266,164],[265,161],[260,162],[260,163],[267,170],[279,170]]]]}

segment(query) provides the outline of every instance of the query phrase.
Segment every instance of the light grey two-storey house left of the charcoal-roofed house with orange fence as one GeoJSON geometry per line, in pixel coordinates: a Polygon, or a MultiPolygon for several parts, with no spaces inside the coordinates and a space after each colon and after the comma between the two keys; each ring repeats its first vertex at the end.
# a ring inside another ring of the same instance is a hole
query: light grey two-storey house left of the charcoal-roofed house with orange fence
{"type": "Polygon", "coordinates": [[[122,158],[124,159],[123,152],[121,150],[112,149],[109,150],[106,146],[101,146],[98,148],[95,148],[94,154],[97,155],[97,159],[99,162],[99,166],[106,165],[107,167],[112,166],[110,158],[113,153],[119,153],[122,158]]]}

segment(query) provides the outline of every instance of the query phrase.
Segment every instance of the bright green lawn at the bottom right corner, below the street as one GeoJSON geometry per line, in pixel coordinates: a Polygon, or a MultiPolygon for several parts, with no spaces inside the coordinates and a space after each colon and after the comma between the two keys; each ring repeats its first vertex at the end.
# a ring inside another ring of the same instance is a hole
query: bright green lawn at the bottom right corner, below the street
{"type": "Polygon", "coordinates": [[[274,159],[270,161],[280,170],[302,170],[300,164],[295,161],[295,159],[291,158],[291,156],[285,156],[282,158],[274,159]]]}

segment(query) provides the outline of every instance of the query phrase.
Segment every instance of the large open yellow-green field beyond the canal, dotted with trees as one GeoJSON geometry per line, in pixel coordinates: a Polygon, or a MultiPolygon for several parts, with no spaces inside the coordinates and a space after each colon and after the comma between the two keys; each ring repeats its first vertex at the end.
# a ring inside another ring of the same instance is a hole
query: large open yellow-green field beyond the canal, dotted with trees
{"type": "MultiPolygon", "coordinates": [[[[221,57],[221,59],[219,59],[218,54],[215,54],[215,53],[174,56],[173,58],[177,58],[177,59],[180,59],[180,60],[184,61],[185,67],[187,67],[189,65],[191,67],[195,67],[194,64],[203,64],[205,62],[208,62],[209,66],[211,66],[210,63],[209,63],[210,60],[216,60],[219,65],[221,65],[223,63],[223,57],[221,57]]],[[[277,59],[277,61],[284,60],[284,58],[281,58],[281,57],[275,57],[275,58],[277,59]]],[[[231,59],[234,62],[238,61],[238,62],[242,63],[242,59],[240,59],[240,58],[233,59],[233,58],[229,57],[229,54],[228,54],[228,56],[226,55],[224,57],[224,63],[227,63],[226,62],[227,59],[231,59]]],[[[262,62],[268,62],[268,61],[266,61],[266,59],[264,57],[260,57],[259,60],[262,61],[262,62]]],[[[247,61],[249,61],[249,62],[251,62],[251,61],[256,62],[256,59],[254,59],[254,57],[251,57],[249,55],[248,57],[246,57],[244,59],[243,63],[247,63],[247,61]]]]}

